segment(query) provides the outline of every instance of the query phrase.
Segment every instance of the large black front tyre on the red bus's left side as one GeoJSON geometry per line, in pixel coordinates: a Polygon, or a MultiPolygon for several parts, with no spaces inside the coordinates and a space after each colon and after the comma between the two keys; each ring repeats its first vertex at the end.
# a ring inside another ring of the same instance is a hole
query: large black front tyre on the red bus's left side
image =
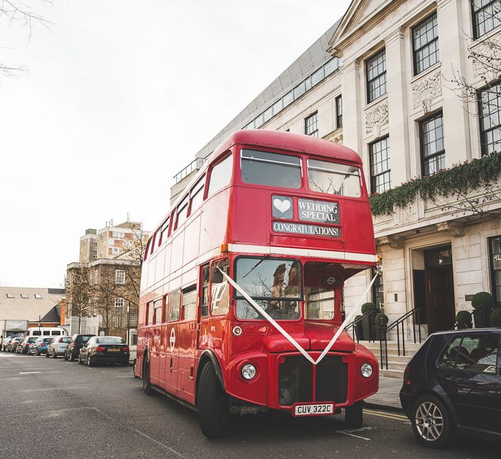
{"type": "Polygon", "coordinates": [[[199,423],[202,434],[207,438],[219,438],[226,434],[230,417],[226,400],[216,370],[211,363],[207,363],[200,374],[198,387],[199,423]]]}

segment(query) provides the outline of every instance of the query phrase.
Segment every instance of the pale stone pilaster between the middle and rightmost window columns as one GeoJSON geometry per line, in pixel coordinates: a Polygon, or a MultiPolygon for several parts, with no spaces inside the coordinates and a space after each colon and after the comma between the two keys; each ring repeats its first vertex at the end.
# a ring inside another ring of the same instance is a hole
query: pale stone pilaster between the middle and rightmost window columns
{"type": "MultiPolygon", "coordinates": [[[[460,1],[438,0],[438,43],[440,45],[440,59],[442,72],[443,94],[443,125],[445,137],[445,166],[471,159],[470,127],[468,105],[458,95],[448,89],[454,78],[454,72],[465,74],[466,56],[463,52],[465,32],[460,1]]],[[[390,112],[391,115],[391,112],[390,112]]]]}

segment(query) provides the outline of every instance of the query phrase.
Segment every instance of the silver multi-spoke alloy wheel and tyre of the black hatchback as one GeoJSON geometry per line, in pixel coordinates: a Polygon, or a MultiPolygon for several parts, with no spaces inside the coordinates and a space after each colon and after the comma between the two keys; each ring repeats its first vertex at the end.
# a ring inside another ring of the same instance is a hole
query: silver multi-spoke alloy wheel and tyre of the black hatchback
{"type": "Polygon", "coordinates": [[[431,394],[419,397],[412,405],[410,422],[414,435],[425,447],[444,447],[454,435],[447,407],[440,398],[431,394]]]}

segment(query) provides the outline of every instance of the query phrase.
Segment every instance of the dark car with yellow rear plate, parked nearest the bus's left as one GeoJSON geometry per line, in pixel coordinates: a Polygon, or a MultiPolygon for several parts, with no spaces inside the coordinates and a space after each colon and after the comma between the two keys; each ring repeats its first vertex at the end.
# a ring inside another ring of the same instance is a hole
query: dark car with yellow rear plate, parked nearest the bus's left
{"type": "Polygon", "coordinates": [[[80,349],[78,363],[84,362],[129,365],[129,346],[120,337],[93,337],[80,349]]]}

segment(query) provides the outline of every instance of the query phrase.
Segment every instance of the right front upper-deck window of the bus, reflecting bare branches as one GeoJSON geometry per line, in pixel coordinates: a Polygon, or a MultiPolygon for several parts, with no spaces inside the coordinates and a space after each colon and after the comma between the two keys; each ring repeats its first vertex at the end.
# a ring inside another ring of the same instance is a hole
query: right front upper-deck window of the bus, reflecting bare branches
{"type": "Polygon", "coordinates": [[[311,191],[360,198],[360,170],[357,166],[309,159],[308,182],[311,191]]]}

